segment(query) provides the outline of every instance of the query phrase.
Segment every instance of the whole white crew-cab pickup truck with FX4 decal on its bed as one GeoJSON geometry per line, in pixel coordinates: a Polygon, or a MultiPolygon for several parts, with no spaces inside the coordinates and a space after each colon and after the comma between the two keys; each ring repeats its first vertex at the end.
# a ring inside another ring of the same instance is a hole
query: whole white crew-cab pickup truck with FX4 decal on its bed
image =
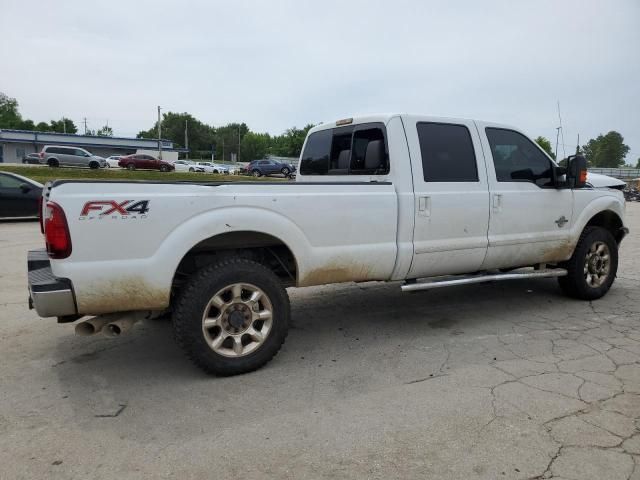
{"type": "Polygon", "coordinates": [[[398,114],[313,128],[296,182],[55,181],[30,303],[94,316],[81,334],[171,311],[188,356],[232,375],[280,349],[290,286],[558,277],[592,300],[628,230],[622,192],[585,179],[583,157],[560,167],[512,127],[398,114]]]}

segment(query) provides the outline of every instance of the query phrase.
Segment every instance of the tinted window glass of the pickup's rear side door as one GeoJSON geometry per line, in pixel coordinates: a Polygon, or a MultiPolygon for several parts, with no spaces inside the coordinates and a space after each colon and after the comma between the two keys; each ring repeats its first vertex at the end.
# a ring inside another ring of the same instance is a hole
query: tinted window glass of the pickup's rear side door
{"type": "Polygon", "coordinates": [[[477,182],[478,167],[469,129],[464,125],[417,125],[425,182],[477,182]]]}

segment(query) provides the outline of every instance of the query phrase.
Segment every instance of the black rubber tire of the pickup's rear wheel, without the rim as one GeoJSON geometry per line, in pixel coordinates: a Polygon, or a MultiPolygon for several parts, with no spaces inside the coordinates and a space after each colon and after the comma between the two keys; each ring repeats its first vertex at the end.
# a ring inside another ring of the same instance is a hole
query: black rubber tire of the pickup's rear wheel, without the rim
{"type": "Polygon", "coordinates": [[[220,376],[239,375],[262,367],[278,353],[287,337],[290,316],[289,296],[280,279],[260,263],[231,257],[191,276],[178,295],[173,310],[173,328],[178,345],[202,370],[220,376]],[[203,315],[216,292],[235,283],[249,283],[264,292],[272,306],[272,323],[271,330],[256,350],[243,356],[228,357],[215,352],[207,343],[203,315]]]}

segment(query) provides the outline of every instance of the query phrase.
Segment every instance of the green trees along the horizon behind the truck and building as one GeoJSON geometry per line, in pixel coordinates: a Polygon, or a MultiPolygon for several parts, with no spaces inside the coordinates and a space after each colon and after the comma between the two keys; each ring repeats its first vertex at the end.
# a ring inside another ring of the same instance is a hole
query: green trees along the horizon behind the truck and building
{"type": "MultiPolygon", "coordinates": [[[[171,140],[175,146],[188,147],[192,158],[211,158],[215,152],[218,160],[236,158],[241,161],[251,161],[264,158],[267,155],[279,157],[297,157],[300,155],[307,132],[312,128],[308,124],[304,128],[292,127],[282,135],[252,132],[246,123],[229,123],[221,127],[214,127],[201,122],[189,113],[168,112],[162,116],[162,138],[171,140]]],[[[62,117],[49,123],[24,119],[19,111],[18,101],[0,92],[0,129],[31,130],[39,132],[78,133],[78,128],[72,120],[62,117]]],[[[89,130],[89,135],[113,136],[113,130],[108,125],[89,130]]],[[[148,130],[142,130],[138,138],[158,138],[157,122],[148,130]]],[[[555,158],[551,142],[542,136],[535,141],[551,157],[555,158]]],[[[578,147],[591,167],[623,167],[624,158],[629,153],[629,146],[624,143],[622,135],[616,131],[600,134],[590,139],[586,144],[578,147]]],[[[633,166],[633,165],[628,165],[633,166]]],[[[640,158],[635,168],[640,168],[640,158]]]]}

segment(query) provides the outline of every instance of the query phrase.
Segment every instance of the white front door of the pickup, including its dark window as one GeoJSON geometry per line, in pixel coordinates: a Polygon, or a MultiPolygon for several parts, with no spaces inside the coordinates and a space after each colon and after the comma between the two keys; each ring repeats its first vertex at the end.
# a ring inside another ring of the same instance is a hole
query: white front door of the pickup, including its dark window
{"type": "Polygon", "coordinates": [[[565,260],[573,193],[554,186],[554,164],[534,142],[505,128],[479,124],[491,188],[489,249],[484,268],[565,260]]]}

